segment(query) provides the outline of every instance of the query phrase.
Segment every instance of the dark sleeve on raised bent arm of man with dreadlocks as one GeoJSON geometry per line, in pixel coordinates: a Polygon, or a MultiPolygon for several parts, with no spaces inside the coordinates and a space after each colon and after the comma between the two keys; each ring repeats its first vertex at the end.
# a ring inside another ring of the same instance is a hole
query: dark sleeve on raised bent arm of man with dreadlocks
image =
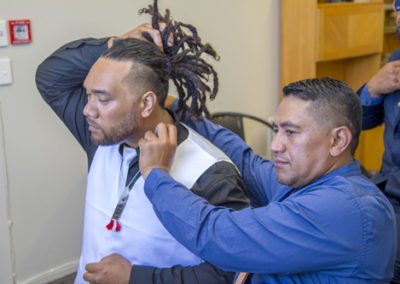
{"type": "Polygon", "coordinates": [[[107,49],[107,40],[82,39],[68,43],[46,58],[36,71],[40,95],[88,154],[93,145],[83,116],[87,102],[83,82],[94,62],[107,49]]]}

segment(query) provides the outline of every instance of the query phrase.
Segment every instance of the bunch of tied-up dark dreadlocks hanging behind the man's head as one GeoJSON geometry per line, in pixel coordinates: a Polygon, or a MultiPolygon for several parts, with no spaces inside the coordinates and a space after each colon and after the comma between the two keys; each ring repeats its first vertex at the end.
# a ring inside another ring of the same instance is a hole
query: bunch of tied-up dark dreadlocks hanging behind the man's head
{"type": "MultiPolygon", "coordinates": [[[[143,13],[151,15],[152,27],[160,31],[165,54],[163,68],[177,89],[180,119],[185,118],[186,112],[197,118],[209,116],[207,96],[213,100],[217,95],[218,75],[212,65],[201,56],[207,54],[218,61],[218,54],[210,44],[201,42],[194,26],[173,20],[168,9],[165,10],[165,15],[161,15],[157,0],[148,8],[139,10],[139,14],[143,13]],[[161,23],[165,25],[162,30],[161,23]],[[212,87],[208,84],[210,76],[212,87]]],[[[153,41],[149,34],[144,33],[143,36],[153,41]]]]}

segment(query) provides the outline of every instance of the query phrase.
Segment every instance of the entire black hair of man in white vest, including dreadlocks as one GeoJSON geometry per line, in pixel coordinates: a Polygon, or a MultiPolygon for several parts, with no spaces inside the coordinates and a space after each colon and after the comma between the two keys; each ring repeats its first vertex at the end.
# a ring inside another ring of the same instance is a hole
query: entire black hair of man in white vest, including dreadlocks
{"type": "MultiPolygon", "coordinates": [[[[206,54],[219,60],[216,51],[210,44],[202,43],[194,26],[173,20],[168,9],[165,15],[161,15],[157,0],[148,8],[139,10],[139,13],[151,15],[152,27],[161,34],[163,51],[154,45],[149,34],[144,33],[143,36],[151,42],[151,46],[149,42],[135,39],[114,40],[112,47],[102,56],[131,60],[148,67],[148,70],[143,68],[132,72],[135,78],[140,76],[142,81],[147,82],[146,87],[153,89],[161,106],[164,106],[168,81],[171,79],[179,96],[177,111],[181,120],[187,113],[197,118],[209,116],[206,101],[207,97],[214,99],[217,95],[218,75],[202,56],[206,54]],[[165,25],[162,30],[161,23],[165,25]]],[[[136,68],[137,64],[133,69],[136,68]]]]}

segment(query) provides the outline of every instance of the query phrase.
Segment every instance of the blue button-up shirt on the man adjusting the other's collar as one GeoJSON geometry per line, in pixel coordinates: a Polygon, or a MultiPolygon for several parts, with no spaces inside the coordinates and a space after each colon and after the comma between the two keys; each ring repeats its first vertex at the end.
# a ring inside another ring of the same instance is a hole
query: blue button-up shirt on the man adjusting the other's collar
{"type": "Polygon", "coordinates": [[[396,230],[386,197],[349,163],[311,184],[280,184],[273,163],[230,131],[192,123],[238,166],[252,208],[209,205],[155,169],[145,192],[182,244],[251,283],[385,283],[393,274],[396,230]]]}

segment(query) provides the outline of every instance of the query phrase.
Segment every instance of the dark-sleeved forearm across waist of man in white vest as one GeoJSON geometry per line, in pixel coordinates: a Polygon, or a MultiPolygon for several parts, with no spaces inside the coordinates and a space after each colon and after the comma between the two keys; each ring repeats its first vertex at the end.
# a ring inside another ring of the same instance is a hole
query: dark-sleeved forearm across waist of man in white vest
{"type": "Polygon", "coordinates": [[[232,283],[233,278],[234,273],[222,271],[207,262],[171,268],[134,265],[129,284],[223,284],[232,283]]]}

